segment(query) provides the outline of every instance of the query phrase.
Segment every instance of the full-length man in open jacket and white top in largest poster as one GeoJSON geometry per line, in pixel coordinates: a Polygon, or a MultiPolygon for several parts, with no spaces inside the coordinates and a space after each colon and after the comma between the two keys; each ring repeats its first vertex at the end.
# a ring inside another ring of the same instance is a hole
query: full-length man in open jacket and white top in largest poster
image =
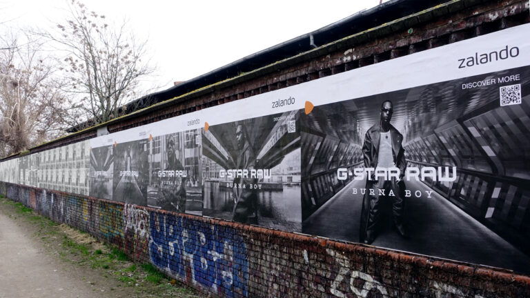
{"type": "Polygon", "coordinates": [[[375,240],[380,208],[384,198],[392,201],[392,215],[397,232],[406,237],[403,226],[404,190],[403,181],[406,169],[403,136],[390,123],[393,114],[391,101],[381,105],[380,122],[372,126],[364,136],[364,168],[399,168],[399,179],[375,177],[375,172],[366,179],[366,193],[362,199],[360,241],[371,244],[375,240]]]}

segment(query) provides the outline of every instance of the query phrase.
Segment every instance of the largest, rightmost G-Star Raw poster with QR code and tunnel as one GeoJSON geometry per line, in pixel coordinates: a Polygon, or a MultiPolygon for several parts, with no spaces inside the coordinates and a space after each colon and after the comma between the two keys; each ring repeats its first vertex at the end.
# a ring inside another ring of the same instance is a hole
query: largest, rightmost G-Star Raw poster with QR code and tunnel
{"type": "Polygon", "coordinates": [[[529,115],[530,67],[315,106],[302,231],[529,272],[529,115]]]}

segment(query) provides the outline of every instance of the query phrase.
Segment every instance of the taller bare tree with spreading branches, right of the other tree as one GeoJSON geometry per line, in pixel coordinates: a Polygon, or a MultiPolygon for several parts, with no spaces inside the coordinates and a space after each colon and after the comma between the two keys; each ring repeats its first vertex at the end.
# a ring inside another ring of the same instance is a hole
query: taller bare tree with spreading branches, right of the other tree
{"type": "Polygon", "coordinates": [[[141,79],[153,73],[145,58],[146,41],[137,42],[125,21],[110,26],[104,15],[79,1],[72,1],[70,12],[70,19],[48,34],[66,50],[68,91],[79,99],[74,110],[84,115],[74,112],[70,122],[103,123],[123,114],[124,104],[138,96],[141,79]]]}

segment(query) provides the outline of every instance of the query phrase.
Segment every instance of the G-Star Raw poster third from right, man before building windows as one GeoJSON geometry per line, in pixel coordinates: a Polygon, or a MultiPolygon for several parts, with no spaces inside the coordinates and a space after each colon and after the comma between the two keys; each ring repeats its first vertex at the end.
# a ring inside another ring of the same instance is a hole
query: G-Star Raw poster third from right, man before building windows
{"type": "Polygon", "coordinates": [[[153,137],[147,204],[202,215],[201,130],[153,137]]]}

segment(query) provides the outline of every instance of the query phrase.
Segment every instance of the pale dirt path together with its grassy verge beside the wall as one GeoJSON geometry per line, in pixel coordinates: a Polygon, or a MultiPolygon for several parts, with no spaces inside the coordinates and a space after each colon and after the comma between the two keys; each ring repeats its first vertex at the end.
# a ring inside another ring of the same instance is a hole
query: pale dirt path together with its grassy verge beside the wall
{"type": "Polygon", "coordinates": [[[0,197],[0,298],[206,297],[150,264],[0,197]]]}

